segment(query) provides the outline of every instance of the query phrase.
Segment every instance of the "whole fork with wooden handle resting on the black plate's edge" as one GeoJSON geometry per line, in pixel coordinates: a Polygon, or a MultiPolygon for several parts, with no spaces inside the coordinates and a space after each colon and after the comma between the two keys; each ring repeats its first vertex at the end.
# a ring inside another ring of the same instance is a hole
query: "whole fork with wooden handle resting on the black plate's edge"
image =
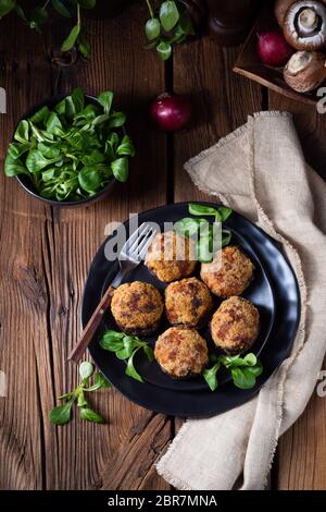
{"type": "Polygon", "coordinates": [[[111,304],[114,290],[122,283],[126,273],[138,267],[138,265],[145,259],[147,249],[155,234],[156,230],[150,223],[143,222],[136,231],[134,231],[131,236],[124,244],[118,255],[120,271],[91,315],[90,320],[83,331],[80,340],[70,353],[68,361],[73,361],[74,363],[78,363],[80,361],[80,357],[96,334],[105,310],[111,304]]]}

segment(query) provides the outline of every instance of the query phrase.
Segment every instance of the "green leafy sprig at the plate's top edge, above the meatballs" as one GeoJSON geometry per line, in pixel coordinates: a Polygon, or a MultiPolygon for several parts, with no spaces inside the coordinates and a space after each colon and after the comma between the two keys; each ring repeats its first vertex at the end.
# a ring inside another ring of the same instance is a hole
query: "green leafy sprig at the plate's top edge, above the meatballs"
{"type": "MultiPolygon", "coordinates": [[[[215,223],[224,222],[233,212],[230,208],[225,206],[213,208],[211,206],[197,205],[196,203],[189,203],[188,210],[190,215],[197,217],[214,217],[215,223]]],[[[222,230],[222,240],[220,242],[217,224],[212,224],[203,218],[193,219],[192,217],[185,217],[175,223],[174,229],[183,236],[197,237],[197,259],[201,263],[212,261],[214,254],[221,247],[228,245],[231,239],[229,230],[222,230]]]]}

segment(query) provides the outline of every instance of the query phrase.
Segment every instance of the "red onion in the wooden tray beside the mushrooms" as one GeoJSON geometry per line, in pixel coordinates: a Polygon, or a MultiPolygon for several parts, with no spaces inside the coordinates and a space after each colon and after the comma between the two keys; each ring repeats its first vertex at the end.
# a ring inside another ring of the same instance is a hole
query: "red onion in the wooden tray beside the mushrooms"
{"type": "Polygon", "coordinates": [[[294,52],[284,36],[275,31],[258,34],[256,51],[264,64],[276,68],[286,64],[294,52]]]}

